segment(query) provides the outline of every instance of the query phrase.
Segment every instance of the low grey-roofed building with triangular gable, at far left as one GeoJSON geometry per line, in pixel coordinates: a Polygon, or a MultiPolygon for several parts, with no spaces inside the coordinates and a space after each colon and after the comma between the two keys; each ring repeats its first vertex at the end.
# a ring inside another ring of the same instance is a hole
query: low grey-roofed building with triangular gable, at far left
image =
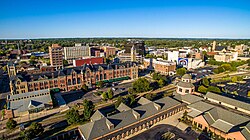
{"type": "Polygon", "coordinates": [[[7,110],[12,111],[14,117],[51,108],[53,101],[49,89],[7,96],[7,110]]]}

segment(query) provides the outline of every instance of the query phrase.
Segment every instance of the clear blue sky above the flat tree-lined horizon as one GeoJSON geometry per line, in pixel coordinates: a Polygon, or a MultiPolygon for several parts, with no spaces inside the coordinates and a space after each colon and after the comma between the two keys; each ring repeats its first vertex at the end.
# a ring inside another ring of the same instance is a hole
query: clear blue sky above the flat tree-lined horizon
{"type": "Polygon", "coordinates": [[[0,38],[250,38],[250,0],[1,0],[0,38]]]}

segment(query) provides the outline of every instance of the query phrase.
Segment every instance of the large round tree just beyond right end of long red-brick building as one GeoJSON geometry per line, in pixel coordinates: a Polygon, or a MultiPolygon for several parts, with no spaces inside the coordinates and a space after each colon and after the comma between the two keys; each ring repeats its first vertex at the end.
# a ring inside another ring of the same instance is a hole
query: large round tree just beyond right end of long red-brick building
{"type": "Polygon", "coordinates": [[[136,93],[146,92],[151,90],[150,82],[146,78],[139,78],[133,82],[132,87],[136,93]]]}

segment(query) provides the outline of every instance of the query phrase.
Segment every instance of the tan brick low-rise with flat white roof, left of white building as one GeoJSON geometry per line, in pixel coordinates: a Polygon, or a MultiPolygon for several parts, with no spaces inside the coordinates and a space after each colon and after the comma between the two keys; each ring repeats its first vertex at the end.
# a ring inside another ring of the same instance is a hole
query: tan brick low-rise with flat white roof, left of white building
{"type": "Polygon", "coordinates": [[[176,63],[163,59],[149,58],[143,60],[143,67],[161,74],[169,75],[176,70],[176,63]]]}

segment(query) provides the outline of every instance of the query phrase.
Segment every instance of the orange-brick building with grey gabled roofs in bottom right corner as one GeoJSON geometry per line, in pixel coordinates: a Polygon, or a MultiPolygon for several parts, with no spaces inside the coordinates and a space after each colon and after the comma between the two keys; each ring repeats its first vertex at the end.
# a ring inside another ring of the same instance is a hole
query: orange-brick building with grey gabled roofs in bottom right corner
{"type": "Polygon", "coordinates": [[[248,140],[250,119],[203,101],[188,105],[193,127],[210,133],[215,139],[248,140]]]}

